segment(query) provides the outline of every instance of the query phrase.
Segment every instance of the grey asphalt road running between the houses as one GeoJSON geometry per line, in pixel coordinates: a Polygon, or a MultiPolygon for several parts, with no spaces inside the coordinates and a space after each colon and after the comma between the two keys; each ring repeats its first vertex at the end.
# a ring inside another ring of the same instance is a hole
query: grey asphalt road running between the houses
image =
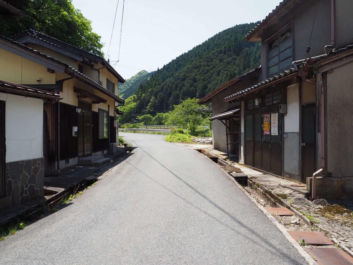
{"type": "Polygon", "coordinates": [[[59,211],[0,242],[0,264],[306,264],[204,155],[123,134],[134,152],[59,211]]]}

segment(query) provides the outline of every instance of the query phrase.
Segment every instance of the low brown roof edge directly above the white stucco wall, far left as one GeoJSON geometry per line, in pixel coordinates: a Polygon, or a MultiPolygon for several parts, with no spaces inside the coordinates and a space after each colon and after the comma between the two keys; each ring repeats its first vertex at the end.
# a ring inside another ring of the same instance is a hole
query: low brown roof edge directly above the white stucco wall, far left
{"type": "Polygon", "coordinates": [[[0,81],[0,91],[5,91],[10,94],[20,94],[23,96],[29,96],[33,98],[50,99],[50,100],[61,100],[62,97],[59,94],[44,91],[37,88],[27,87],[20,84],[14,84],[10,82],[0,81]]]}

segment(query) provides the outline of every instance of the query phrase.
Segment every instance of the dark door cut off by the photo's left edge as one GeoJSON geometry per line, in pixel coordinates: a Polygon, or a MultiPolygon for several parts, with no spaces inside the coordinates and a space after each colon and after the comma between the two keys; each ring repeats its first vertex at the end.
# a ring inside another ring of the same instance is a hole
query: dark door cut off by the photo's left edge
{"type": "Polygon", "coordinates": [[[0,198],[5,196],[5,101],[0,101],[0,198]]]}

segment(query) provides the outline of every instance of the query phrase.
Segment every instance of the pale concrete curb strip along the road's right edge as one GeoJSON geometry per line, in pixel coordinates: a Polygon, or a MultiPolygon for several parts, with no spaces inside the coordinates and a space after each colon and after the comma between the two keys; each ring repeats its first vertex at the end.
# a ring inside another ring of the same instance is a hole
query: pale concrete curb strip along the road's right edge
{"type": "MultiPolygon", "coordinates": [[[[198,152],[199,153],[199,152],[198,152]]],[[[208,158],[209,159],[209,158],[208,158]]],[[[211,159],[210,159],[211,160],[211,159]]],[[[212,161],[212,160],[211,160],[212,161]]],[[[216,164],[226,175],[228,178],[230,178],[235,185],[238,186],[238,188],[267,216],[267,218],[276,226],[276,228],[278,230],[280,230],[280,232],[283,234],[283,236],[285,236],[287,238],[287,240],[289,241],[289,243],[291,243],[291,245],[298,251],[298,253],[305,259],[305,261],[307,262],[307,264],[309,265],[318,265],[315,260],[313,260],[311,258],[311,256],[309,255],[309,253],[307,253],[300,245],[297,241],[295,241],[293,239],[293,237],[291,237],[291,235],[288,234],[286,228],[281,225],[279,222],[277,222],[277,220],[271,216],[271,214],[265,210],[264,207],[262,207],[231,175],[228,174],[227,171],[223,170],[222,167],[219,164],[216,164]]],[[[292,207],[293,208],[293,207],[292,207]]],[[[295,209],[294,209],[295,210],[295,209]]],[[[298,212],[298,211],[297,211],[298,212]]],[[[309,220],[309,219],[308,219],[309,220]]]]}

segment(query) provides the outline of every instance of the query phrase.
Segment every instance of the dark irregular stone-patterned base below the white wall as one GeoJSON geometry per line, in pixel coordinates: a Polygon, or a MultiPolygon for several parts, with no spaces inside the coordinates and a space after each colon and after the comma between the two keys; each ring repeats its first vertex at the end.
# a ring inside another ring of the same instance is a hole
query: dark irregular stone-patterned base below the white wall
{"type": "Polygon", "coordinates": [[[6,163],[6,197],[0,211],[44,196],[44,158],[6,163]]]}

